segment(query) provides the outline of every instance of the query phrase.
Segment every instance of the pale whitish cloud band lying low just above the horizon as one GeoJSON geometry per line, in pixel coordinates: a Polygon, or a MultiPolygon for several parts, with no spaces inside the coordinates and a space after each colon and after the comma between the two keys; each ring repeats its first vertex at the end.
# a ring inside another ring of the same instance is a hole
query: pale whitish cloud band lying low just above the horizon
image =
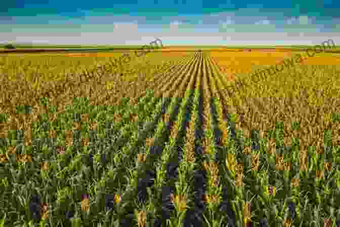
{"type": "Polygon", "coordinates": [[[32,42],[45,40],[51,44],[75,45],[144,45],[158,37],[164,46],[167,45],[320,45],[332,39],[336,42],[340,33],[329,32],[187,32],[187,31],[155,31],[155,32],[121,32],[107,33],[2,33],[2,41],[32,42]]]}

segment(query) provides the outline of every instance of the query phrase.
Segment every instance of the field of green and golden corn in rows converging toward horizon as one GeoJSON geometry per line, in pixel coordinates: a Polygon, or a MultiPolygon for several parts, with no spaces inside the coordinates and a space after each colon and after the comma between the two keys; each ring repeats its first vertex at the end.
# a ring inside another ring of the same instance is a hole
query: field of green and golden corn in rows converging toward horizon
{"type": "Polygon", "coordinates": [[[0,226],[340,226],[338,67],[159,54],[56,83],[3,61],[0,226]]]}

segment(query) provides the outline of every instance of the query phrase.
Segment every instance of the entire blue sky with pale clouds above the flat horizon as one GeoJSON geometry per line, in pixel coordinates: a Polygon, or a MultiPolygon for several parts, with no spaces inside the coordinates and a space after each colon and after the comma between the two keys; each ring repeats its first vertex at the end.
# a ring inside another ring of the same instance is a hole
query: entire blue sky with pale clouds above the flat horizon
{"type": "Polygon", "coordinates": [[[0,43],[338,45],[339,12],[332,0],[13,0],[0,8],[0,43]]]}

